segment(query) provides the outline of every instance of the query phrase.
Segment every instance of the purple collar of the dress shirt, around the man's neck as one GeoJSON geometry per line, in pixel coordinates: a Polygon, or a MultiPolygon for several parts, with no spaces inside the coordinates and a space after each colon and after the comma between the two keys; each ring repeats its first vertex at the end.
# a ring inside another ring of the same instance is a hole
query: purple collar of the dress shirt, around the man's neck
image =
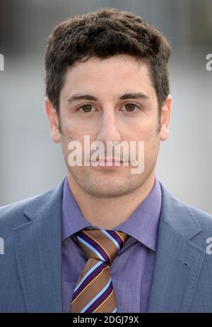
{"type": "MultiPolygon", "coordinates": [[[[146,199],[139,204],[125,222],[112,230],[125,232],[149,249],[156,251],[161,201],[160,182],[155,177],[153,188],[146,199]]],[[[84,228],[98,229],[98,227],[90,225],[90,222],[84,218],[73,197],[67,178],[64,182],[62,216],[62,241],[84,228]]]]}

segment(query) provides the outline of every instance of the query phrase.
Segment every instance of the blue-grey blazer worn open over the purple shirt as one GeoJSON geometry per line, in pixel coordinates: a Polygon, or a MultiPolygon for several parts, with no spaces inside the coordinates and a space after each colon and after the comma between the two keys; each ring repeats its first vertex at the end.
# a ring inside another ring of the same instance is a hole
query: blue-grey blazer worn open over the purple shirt
{"type": "MultiPolygon", "coordinates": [[[[62,311],[63,184],[0,208],[0,312],[62,311]]],[[[212,216],[160,186],[162,208],[148,312],[212,312],[212,251],[206,251],[212,216]]]]}

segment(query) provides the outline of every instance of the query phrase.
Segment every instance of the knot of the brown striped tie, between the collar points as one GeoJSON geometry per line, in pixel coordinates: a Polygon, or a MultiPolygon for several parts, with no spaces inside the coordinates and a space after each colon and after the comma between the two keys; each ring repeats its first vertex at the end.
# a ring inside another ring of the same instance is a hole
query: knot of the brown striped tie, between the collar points
{"type": "Polygon", "coordinates": [[[80,230],[75,234],[86,258],[97,258],[110,266],[129,237],[115,230],[80,230]]]}

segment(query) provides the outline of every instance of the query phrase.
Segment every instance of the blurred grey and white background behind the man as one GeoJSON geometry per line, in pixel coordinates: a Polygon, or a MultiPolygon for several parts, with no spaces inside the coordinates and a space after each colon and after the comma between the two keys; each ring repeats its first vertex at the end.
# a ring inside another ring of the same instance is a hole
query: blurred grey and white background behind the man
{"type": "Polygon", "coordinates": [[[172,46],[170,136],[157,175],[177,198],[212,213],[212,0],[0,0],[0,206],[34,196],[66,175],[45,117],[45,47],[54,25],[114,7],[162,30],[172,46]]]}

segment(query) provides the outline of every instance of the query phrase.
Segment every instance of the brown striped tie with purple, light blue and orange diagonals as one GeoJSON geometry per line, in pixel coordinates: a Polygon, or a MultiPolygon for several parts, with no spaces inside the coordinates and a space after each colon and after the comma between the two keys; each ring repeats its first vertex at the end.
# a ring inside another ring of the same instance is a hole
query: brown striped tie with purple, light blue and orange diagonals
{"type": "Polygon", "coordinates": [[[117,312],[110,266],[129,235],[114,230],[81,230],[75,234],[86,256],[71,301],[71,313],[117,312]]]}

